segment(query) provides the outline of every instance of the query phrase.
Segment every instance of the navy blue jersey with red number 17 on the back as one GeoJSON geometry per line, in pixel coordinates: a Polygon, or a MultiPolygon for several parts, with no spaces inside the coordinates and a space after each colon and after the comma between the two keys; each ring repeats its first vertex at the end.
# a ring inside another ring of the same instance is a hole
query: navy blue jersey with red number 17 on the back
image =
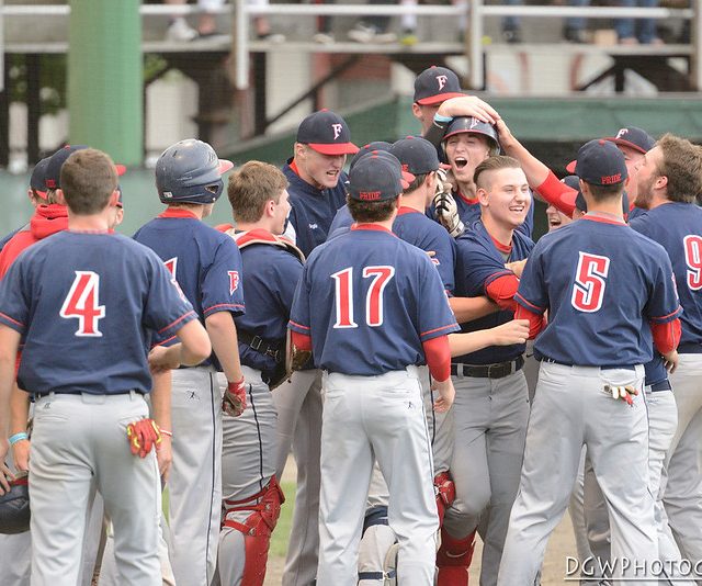
{"type": "Polygon", "coordinates": [[[316,367],[373,376],[422,364],[422,342],[458,326],[429,257],[361,225],[310,255],[290,328],[312,336],[316,367]]]}

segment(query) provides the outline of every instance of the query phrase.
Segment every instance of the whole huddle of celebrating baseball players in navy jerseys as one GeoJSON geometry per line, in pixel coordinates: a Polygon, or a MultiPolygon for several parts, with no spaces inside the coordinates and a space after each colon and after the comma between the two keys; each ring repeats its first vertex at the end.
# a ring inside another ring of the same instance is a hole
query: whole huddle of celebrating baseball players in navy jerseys
{"type": "Polygon", "coordinates": [[[558,180],[449,69],[412,113],[359,148],[315,112],[282,169],[181,140],[133,238],[107,155],[35,167],[3,584],[261,586],[291,451],[284,586],[467,586],[476,536],[482,586],[532,586],[566,508],[570,579],[702,584],[702,147],[625,127],[558,180]]]}

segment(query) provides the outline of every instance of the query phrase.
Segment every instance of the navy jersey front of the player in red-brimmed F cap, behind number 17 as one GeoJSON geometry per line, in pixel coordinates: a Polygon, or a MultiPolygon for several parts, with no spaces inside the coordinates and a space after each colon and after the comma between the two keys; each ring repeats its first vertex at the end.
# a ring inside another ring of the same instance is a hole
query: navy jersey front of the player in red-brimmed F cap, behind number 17
{"type": "Polygon", "coordinates": [[[283,173],[290,187],[288,222],[295,228],[295,244],[307,257],[315,247],[327,239],[331,221],[337,210],[346,204],[347,191],[343,187],[348,176],[341,171],[339,182],[333,189],[318,190],[304,181],[292,168],[292,159],[283,166],[283,173]]]}

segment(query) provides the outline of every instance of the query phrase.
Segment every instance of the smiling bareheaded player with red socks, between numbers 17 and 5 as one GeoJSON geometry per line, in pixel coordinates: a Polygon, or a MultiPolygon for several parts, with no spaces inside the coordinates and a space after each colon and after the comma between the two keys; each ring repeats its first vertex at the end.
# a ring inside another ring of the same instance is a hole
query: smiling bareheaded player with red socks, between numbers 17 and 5
{"type": "MultiPolygon", "coordinates": [[[[456,294],[487,295],[500,311],[463,324],[463,331],[512,319],[519,279],[506,263],[525,259],[533,247],[518,230],[531,205],[519,162],[489,157],[477,166],[473,181],[482,219],[456,239],[456,294]]],[[[494,584],[497,577],[529,417],[523,352],[524,345],[490,347],[452,360],[456,401],[451,474],[456,498],[446,509],[437,555],[440,585],[467,584],[475,531],[488,507],[480,584],[494,584]]]]}

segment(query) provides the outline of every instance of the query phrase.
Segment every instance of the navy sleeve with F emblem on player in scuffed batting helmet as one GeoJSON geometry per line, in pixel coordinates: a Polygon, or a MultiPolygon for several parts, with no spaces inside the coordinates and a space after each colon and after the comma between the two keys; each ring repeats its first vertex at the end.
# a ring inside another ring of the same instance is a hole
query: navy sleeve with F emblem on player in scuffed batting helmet
{"type": "Polygon", "coordinates": [[[217,247],[202,281],[202,308],[205,317],[216,312],[245,313],[241,253],[228,236],[217,247]]]}

